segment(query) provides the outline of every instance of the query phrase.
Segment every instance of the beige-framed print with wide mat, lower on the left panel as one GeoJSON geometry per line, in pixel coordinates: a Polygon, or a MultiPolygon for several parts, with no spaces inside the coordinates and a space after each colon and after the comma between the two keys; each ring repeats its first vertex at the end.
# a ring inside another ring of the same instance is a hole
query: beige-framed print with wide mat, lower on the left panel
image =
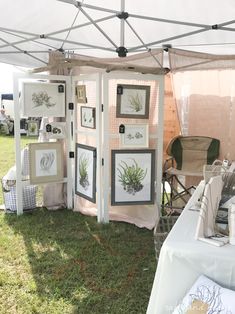
{"type": "Polygon", "coordinates": [[[31,184],[59,182],[64,178],[63,151],[59,142],[29,144],[31,184]]]}

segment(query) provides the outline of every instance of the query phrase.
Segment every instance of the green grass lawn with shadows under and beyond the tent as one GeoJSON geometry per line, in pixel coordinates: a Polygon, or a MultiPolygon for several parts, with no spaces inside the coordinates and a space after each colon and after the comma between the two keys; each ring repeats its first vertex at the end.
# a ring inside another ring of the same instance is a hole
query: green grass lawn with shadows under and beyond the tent
{"type": "MultiPolygon", "coordinates": [[[[14,164],[6,138],[1,176],[14,164]]],[[[155,269],[153,231],[69,210],[0,212],[0,313],[146,313],[155,269]]]]}

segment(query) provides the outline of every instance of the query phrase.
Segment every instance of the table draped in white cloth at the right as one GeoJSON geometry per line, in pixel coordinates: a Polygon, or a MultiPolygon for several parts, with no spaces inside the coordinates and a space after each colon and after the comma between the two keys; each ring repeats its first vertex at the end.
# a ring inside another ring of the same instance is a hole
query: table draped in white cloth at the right
{"type": "Polygon", "coordinates": [[[199,212],[189,210],[192,198],[161,248],[147,314],[172,313],[200,274],[235,290],[235,246],[194,239],[199,212]]]}

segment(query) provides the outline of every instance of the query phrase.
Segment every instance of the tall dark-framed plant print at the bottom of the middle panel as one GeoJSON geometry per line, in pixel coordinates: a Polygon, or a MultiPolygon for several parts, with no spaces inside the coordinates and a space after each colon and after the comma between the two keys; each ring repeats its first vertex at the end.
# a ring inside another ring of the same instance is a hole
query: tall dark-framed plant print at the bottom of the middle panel
{"type": "Polygon", "coordinates": [[[96,202],[96,148],[76,144],[75,193],[96,202]]]}

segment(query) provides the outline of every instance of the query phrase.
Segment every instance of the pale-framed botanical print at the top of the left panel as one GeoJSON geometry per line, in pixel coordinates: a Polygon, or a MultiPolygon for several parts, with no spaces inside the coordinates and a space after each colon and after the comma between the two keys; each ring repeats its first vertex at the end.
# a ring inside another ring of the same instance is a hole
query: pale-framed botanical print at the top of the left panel
{"type": "Polygon", "coordinates": [[[64,117],[65,84],[24,82],[22,103],[27,117],[64,117]]]}

